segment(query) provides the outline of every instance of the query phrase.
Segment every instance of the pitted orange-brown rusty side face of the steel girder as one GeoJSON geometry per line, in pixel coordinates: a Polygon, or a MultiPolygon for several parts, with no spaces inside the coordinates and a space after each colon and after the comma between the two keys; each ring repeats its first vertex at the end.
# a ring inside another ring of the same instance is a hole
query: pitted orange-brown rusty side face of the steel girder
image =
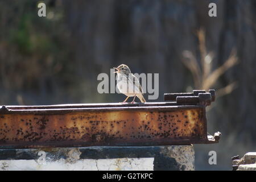
{"type": "MultiPolygon", "coordinates": [[[[164,111],[84,111],[67,114],[2,114],[0,145],[47,146],[54,142],[143,143],[206,137],[203,108],[164,111]]],[[[161,142],[158,142],[161,144],[161,142]]],[[[168,143],[168,142],[167,142],[168,143]]],[[[62,143],[63,144],[63,143],[62,143]]],[[[65,145],[65,143],[64,143],[65,145]]]]}

